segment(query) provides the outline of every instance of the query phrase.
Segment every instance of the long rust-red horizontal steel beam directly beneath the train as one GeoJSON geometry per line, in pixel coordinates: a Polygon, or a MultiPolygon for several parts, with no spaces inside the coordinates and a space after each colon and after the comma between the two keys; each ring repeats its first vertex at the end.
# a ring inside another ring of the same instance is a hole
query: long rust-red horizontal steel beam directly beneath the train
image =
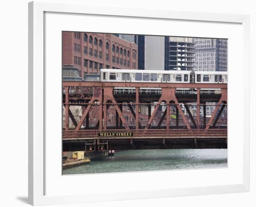
{"type": "Polygon", "coordinates": [[[89,81],[63,81],[63,87],[161,87],[161,88],[224,88],[226,83],[134,83],[134,82],[89,82],[89,81]]]}

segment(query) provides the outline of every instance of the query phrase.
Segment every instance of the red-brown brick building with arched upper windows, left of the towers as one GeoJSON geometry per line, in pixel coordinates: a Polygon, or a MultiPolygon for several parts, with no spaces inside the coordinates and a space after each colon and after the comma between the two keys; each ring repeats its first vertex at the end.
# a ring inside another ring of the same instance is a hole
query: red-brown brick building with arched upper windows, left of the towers
{"type": "Polygon", "coordinates": [[[82,78],[101,68],[137,69],[138,47],[109,33],[62,32],[62,66],[67,64],[82,78]]]}

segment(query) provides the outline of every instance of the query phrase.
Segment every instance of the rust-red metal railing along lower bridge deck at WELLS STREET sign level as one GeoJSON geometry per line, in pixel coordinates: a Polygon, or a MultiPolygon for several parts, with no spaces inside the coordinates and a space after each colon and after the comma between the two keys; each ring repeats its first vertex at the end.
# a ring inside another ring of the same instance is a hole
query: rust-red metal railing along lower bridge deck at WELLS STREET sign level
{"type": "MultiPolygon", "coordinates": [[[[227,137],[227,129],[108,129],[108,130],[63,130],[63,139],[97,138],[98,133],[127,133],[132,137],[124,138],[183,138],[183,137],[227,137]]],[[[118,137],[118,136],[116,136],[118,137]]],[[[123,137],[123,136],[120,136],[123,137]]],[[[110,137],[111,138],[111,137],[110,137]]]]}

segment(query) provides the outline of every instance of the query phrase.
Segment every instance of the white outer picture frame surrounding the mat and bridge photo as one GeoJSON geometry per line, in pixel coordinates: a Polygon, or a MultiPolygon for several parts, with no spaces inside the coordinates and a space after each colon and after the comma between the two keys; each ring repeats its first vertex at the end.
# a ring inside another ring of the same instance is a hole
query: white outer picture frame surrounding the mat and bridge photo
{"type": "MultiPolygon", "coordinates": [[[[131,7],[99,7],[91,5],[78,5],[67,3],[30,2],[29,3],[29,192],[28,202],[31,205],[67,204],[92,201],[128,200],[159,198],[183,195],[199,194],[221,194],[249,191],[249,80],[243,76],[241,84],[243,92],[243,134],[241,146],[241,180],[229,185],[216,183],[204,187],[157,187],[155,190],[131,190],[109,191],[109,193],[92,194],[47,194],[46,191],[46,157],[47,144],[45,143],[45,104],[46,104],[46,82],[45,82],[45,14],[65,13],[93,14],[101,16],[150,18],[156,20],[179,20],[190,22],[218,22],[225,24],[237,24],[241,26],[243,35],[243,74],[249,73],[249,15],[223,14],[223,13],[199,13],[199,12],[177,12],[168,10],[138,9],[131,7]]],[[[95,31],[97,32],[97,31],[95,31]]],[[[232,61],[232,60],[231,60],[232,61]]],[[[61,66],[60,66],[61,70],[61,66]]],[[[61,78],[61,77],[60,77],[61,78]]],[[[61,79],[60,79],[61,80],[61,79]]],[[[232,93],[230,93],[232,94],[232,93]]],[[[59,152],[61,153],[61,152],[59,152]]],[[[60,163],[61,165],[61,163],[60,163]]],[[[194,171],[195,172],[199,172],[194,171]]],[[[192,172],[192,171],[190,171],[192,172]]],[[[166,172],[168,173],[168,172],[166,172]]],[[[147,175],[153,174],[148,172],[147,175]]],[[[137,176],[140,176],[136,174],[137,176]]],[[[60,175],[61,176],[61,175],[60,175]]],[[[81,175],[84,176],[84,175],[81,175]]],[[[87,176],[87,175],[85,175],[87,176]]],[[[103,176],[103,175],[99,175],[103,176]]],[[[115,175],[118,177],[118,174],[115,175]]],[[[125,176],[125,174],[122,174],[125,176]]]]}

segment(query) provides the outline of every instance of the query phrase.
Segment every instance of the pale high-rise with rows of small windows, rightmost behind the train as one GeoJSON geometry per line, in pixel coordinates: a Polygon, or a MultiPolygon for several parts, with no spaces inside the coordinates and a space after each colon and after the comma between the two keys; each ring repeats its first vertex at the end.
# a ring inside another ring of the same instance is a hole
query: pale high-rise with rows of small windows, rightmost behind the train
{"type": "Polygon", "coordinates": [[[194,38],[195,70],[227,71],[228,40],[194,38]]]}

